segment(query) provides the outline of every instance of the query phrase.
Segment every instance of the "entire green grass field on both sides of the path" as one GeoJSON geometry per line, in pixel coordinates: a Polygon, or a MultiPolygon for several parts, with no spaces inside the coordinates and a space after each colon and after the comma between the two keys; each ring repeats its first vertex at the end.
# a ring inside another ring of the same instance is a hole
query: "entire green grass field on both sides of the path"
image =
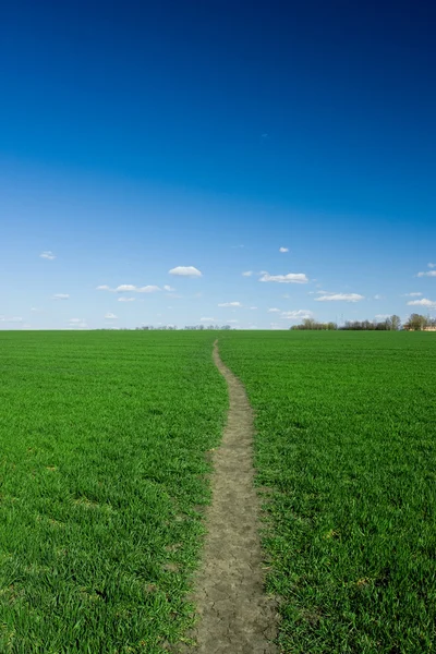
{"type": "Polygon", "coordinates": [[[186,633],[217,336],[256,413],[282,651],[436,651],[436,335],[3,331],[1,654],[186,633]]]}

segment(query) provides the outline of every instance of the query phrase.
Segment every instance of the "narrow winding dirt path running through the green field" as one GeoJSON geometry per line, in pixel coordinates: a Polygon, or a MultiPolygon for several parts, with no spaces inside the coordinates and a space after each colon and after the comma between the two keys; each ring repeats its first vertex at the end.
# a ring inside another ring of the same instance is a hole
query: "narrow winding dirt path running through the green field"
{"type": "Polygon", "coordinates": [[[194,602],[199,620],[197,654],[276,654],[274,600],[264,592],[257,533],[259,502],[253,486],[253,414],[244,387],[214,361],[229,386],[230,408],[222,444],[214,456],[213,504],[194,602]]]}

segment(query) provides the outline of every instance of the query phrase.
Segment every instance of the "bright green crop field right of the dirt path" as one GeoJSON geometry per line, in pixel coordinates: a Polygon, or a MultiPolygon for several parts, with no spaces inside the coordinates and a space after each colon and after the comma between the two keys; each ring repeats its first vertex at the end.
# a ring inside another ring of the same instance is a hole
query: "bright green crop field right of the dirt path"
{"type": "Polygon", "coordinates": [[[436,335],[230,332],[284,652],[436,651],[436,335]]]}

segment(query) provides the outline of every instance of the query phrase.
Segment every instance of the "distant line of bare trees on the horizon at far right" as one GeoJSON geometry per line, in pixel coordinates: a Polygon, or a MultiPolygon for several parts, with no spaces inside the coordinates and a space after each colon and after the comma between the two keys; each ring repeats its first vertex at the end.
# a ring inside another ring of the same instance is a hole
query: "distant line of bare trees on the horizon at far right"
{"type": "Polygon", "coordinates": [[[436,318],[411,314],[401,327],[401,319],[397,315],[388,316],[383,320],[347,320],[344,325],[337,323],[318,323],[313,318],[304,318],[300,325],[292,325],[290,329],[319,329],[319,330],[355,330],[355,331],[398,331],[399,329],[421,331],[425,328],[436,328],[436,318]]]}

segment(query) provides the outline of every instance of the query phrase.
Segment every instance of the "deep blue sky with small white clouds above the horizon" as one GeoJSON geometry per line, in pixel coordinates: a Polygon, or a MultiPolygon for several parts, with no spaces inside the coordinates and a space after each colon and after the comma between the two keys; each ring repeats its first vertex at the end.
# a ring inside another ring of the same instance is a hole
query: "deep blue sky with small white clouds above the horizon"
{"type": "Polygon", "coordinates": [[[3,5],[0,328],[433,315],[436,8],[358,4],[3,5]]]}

